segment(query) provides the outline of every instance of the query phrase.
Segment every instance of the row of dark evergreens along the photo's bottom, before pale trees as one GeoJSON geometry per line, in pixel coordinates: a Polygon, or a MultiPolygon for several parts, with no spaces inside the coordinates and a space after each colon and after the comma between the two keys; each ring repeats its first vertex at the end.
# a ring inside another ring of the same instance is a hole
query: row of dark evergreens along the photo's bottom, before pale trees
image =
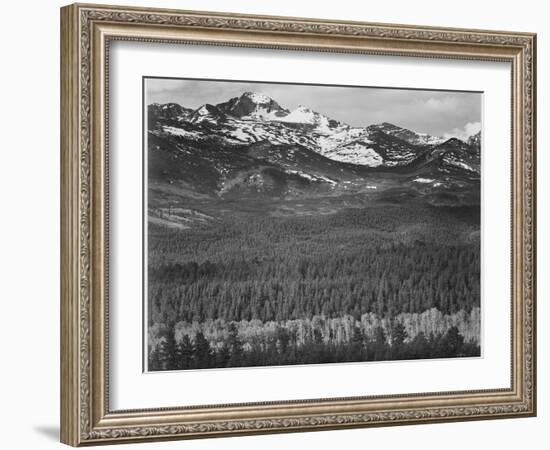
{"type": "Polygon", "coordinates": [[[417,334],[408,339],[400,322],[396,321],[387,333],[377,327],[367,337],[359,327],[354,329],[349,342],[325,342],[319,334],[305,345],[291,342],[288,330],[280,327],[265,343],[245,346],[234,324],[220,346],[213,347],[201,331],[193,338],[184,334],[178,341],[174,327],[150,348],[148,370],[185,370],[223,367],[251,367],[294,364],[340,363],[360,361],[387,361],[479,356],[477,344],[465,342],[458,328],[445,333],[417,334]]]}

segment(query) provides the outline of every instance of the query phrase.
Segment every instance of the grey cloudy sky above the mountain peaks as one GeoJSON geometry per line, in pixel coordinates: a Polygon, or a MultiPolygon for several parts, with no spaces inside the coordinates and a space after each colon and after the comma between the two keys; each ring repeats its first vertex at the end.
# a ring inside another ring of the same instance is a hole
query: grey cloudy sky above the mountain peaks
{"type": "Polygon", "coordinates": [[[480,93],[160,78],[145,82],[147,104],[175,102],[198,108],[251,91],[283,108],[303,105],[358,127],[390,122],[435,136],[466,138],[481,126],[480,93]]]}

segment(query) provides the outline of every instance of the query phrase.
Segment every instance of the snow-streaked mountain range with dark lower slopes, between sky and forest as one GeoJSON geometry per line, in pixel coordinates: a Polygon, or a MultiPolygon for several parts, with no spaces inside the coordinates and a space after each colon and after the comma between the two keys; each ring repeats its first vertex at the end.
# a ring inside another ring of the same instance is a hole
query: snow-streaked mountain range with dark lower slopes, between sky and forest
{"type": "Polygon", "coordinates": [[[353,127],[252,92],[195,110],[149,105],[148,145],[159,183],[180,180],[223,196],[369,190],[377,186],[365,180],[377,176],[424,190],[479,179],[479,133],[463,142],[390,123],[353,127]]]}

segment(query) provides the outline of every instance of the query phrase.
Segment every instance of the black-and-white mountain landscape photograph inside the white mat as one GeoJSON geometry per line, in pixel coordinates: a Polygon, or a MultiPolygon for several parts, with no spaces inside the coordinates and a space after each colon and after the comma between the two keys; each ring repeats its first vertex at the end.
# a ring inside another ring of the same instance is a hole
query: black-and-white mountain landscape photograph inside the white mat
{"type": "Polygon", "coordinates": [[[145,370],[479,357],[482,99],[143,78],[145,370]]]}

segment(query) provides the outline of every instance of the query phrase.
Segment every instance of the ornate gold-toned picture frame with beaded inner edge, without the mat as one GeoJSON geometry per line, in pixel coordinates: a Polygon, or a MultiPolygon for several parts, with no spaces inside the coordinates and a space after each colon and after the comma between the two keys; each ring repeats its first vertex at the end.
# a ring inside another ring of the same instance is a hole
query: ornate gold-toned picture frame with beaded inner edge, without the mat
{"type": "Polygon", "coordinates": [[[75,4],[61,9],[61,440],[80,446],[533,416],[536,36],[75,4]],[[512,65],[512,385],[389,397],[110,411],[106,64],[109,42],[508,61],[512,65]]]}

